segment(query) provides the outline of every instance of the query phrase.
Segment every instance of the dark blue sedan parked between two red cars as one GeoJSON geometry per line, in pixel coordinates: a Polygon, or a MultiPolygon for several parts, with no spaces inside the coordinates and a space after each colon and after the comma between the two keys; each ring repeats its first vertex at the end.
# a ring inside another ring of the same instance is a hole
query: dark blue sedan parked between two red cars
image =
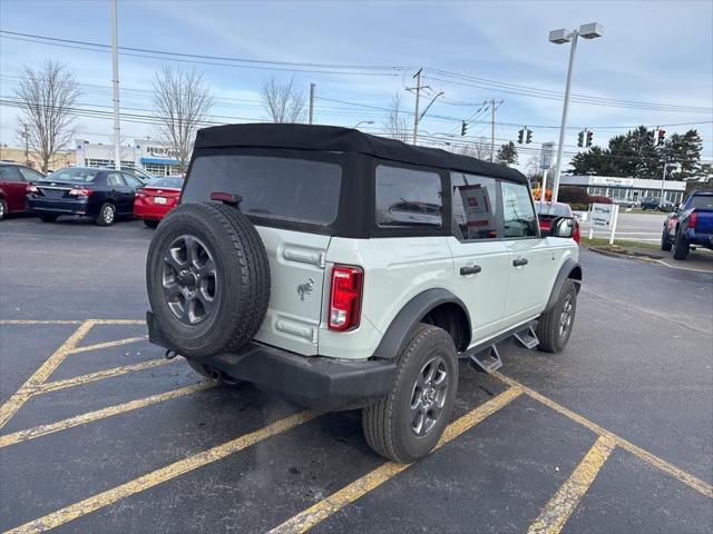
{"type": "Polygon", "coordinates": [[[29,186],[27,206],[46,222],[74,215],[109,226],[118,217],[131,217],[134,196],[143,185],[119,170],[68,167],[29,186]]]}

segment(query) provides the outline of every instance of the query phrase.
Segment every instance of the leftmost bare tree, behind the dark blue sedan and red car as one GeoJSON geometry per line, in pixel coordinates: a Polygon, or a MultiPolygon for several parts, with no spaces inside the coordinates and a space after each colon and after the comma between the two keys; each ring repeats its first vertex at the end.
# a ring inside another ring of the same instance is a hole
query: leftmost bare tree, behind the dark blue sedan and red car
{"type": "Polygon", "coordinates": [[[41,70],[26,68],[14,95],[21,109],[19,131],[47,172],[53,156],[77,134],[72,108],[81,96],[79,86],[71,71],[50,60],[41,70]]]}

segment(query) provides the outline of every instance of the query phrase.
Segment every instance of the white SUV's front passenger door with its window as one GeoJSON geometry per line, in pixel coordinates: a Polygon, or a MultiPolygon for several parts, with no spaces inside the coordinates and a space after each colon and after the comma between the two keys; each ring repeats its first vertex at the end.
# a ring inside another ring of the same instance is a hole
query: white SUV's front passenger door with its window
{"type": "Polygon", "coordinates": [[[526,184],[500,182],[505,244],[510,253],[505,325],[515,326],[541,312],[556,275],[556,254],[539,235],[526,184]]]}

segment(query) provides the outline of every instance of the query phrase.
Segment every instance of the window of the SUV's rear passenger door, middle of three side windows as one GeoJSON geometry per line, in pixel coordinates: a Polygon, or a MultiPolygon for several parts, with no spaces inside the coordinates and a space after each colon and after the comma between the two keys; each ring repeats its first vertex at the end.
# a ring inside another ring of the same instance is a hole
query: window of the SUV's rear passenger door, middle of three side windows
{"type": "Polygon", "coordinates": [[[451,172],[453,233],[458,239],[496,239],[497,182],[492,178],[451,172]]]}

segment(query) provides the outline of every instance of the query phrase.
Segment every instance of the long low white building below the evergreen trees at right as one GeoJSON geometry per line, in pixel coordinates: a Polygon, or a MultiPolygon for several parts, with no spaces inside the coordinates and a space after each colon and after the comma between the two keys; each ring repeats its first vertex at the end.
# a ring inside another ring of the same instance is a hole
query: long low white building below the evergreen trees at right
{"type": "MultiPolygon", "coordinates": [[[[619,178],[614,176],[561,176],[560,186],[576,186],[587,190],[588,195],[600,195],[612,200],[639,201],[644,197],[661,197],[663,180],[643,178],[619,178]]],[[[664,198],[681,204],[686,189],[685,181],[663,181],[664,198]]]]}

